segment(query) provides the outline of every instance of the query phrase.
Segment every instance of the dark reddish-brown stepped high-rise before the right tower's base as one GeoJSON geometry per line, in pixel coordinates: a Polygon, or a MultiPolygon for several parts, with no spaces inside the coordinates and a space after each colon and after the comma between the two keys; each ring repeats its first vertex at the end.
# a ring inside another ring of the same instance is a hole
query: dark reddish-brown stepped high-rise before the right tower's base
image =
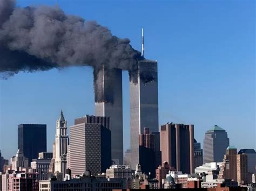
{"type": "Polygon", "coordinates": [[[149,128],[144,128],[143,134],[139,135],[139,164],[145,174],[151,174],[151,178],[156,176],[156,154],[154,134],[149,128]]]}

